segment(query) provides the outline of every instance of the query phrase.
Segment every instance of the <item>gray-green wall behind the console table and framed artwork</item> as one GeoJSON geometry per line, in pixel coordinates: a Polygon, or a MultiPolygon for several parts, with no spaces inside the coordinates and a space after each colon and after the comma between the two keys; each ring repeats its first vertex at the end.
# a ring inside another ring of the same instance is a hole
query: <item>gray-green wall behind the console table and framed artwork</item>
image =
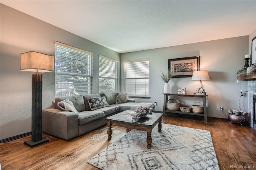
{"type": "MultiPolygon", "coordinates": [[[[228,118],[227,109],[240,110],[238,106],[240,88],[245,92],[248,91],[248,82],[237,83],[236,75],[236,71],[244,67],[245,54],[248,54],[248,36],[123,53],[120,55],[120,61],[122,63],[131,59],[150,58],[151,98],[148,102],[157,101],[155,110],[162,111],[164,82],[160,80],[159,74],[168,70],[168,59],[199,55],[200,70],[208,70],[210,76],[210,80],[202,81],[208,94],[207,114],[209,117],[221,118],[223,113],[220,111],[220,106],[224,106],[223,118],[228,118]]],[[[172,78],[169,85],[170,93],[177,93],[179,87],[186,87],[188,94],[192,94],[199,87],[199,81],[191,81],[191,77],[172,78]]],[[[178,99],[183,105],[192,105],[199,100],[178,99]]],[[[247,100],[245,94],[240,100],[242,110],[248,109],[247,100]]],[[[140,100],[136,99],[136,101],[140,100]]]]}

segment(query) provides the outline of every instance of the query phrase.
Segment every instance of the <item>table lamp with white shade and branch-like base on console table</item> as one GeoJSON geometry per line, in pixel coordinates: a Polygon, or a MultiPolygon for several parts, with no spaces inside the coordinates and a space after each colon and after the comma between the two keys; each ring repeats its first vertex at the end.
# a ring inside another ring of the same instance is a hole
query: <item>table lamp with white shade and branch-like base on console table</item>
{"type": "Polygon", "coordinates": [[[200,80],[199,82],[200,82],[201,87],[199,87],[198,90],[194,94],[206,95],[206,92],[204,90],[204,85],[201,80],[210,80],[208,71],[207,70],[194,71],[191,80],[200,80]]]}

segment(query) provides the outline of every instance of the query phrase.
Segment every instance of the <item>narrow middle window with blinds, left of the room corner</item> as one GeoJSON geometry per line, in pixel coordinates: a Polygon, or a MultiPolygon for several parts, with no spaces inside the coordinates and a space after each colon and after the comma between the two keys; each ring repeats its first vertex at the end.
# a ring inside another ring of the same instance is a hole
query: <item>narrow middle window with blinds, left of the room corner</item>
{"type": "Polygon", "coordinates": [[[118,61],[99,55],[99,93],[118,92],[118,61]]]}

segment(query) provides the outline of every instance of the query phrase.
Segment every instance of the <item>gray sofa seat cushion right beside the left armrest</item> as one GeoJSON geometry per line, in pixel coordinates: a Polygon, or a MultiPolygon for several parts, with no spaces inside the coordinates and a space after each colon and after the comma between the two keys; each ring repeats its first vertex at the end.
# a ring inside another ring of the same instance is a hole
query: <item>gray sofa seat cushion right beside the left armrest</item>
{"type": "Polygon", "coordinates": [[[83,111],[78,113],[78,123],[79,125],[84,125],[86,123],[104,118],[104,112],[102,111],[83,111]]]}

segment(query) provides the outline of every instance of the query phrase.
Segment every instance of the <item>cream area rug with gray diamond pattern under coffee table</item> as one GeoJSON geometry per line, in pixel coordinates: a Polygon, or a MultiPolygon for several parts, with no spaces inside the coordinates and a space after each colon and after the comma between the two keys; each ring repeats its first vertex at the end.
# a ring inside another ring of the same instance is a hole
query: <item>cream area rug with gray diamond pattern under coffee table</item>
{"type": "MultiPolygon", "coordinates": [[[[115,135],[113,130],[112,136],[115,135]]],[[[162,124],[147,132],[131,130],[88,163],[102,170],[218,170],[210,131],[162,124]]]]}

